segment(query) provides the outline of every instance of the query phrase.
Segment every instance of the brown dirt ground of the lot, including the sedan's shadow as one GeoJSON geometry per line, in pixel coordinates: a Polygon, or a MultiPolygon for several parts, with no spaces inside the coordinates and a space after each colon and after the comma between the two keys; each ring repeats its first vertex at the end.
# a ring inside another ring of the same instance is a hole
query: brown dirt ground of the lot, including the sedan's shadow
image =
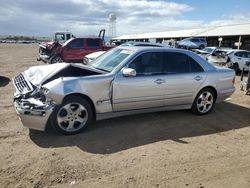
{"type": "Polygon", "coordinates": [[[250,187],[250,96],[239,90],[206,116],[134,115],[61,136],[24,128],[9,79],[38,45],[0,44],[0,187],[250,187]]]}

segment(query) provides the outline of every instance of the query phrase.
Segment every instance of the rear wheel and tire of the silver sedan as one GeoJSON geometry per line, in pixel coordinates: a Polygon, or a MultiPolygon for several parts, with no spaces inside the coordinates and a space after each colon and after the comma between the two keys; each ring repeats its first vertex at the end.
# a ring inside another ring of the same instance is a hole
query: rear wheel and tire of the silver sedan
{"type": "Polygon", "coordinates": [[[191,111],[198,115],[209,113],[215,103],[215,93],[210,88],[202,89],[195,97],[191,111]]]}

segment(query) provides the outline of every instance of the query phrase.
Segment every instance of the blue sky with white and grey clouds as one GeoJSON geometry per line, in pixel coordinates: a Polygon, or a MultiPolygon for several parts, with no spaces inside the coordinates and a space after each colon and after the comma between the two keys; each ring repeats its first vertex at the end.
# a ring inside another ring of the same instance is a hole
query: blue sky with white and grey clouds
{"type": "Polygon", "coordinates": [[[250,22],[250,0],[0,0],[0,34],[76,36],[108,30],[117,15],[117,35],[250,22]]]}

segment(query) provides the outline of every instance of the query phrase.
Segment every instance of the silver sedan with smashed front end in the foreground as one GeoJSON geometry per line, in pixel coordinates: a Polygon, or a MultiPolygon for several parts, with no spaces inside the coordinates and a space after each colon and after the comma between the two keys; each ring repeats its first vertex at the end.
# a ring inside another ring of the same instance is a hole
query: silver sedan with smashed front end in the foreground
{"type": "Polygon", "coordinates": [[[31,67],[13,79],[24,126],[76,134],[94,120],[162,110],[204,115],[235,90],[233,70],[193,52],[117,47],[91,63],[31,67]]]}

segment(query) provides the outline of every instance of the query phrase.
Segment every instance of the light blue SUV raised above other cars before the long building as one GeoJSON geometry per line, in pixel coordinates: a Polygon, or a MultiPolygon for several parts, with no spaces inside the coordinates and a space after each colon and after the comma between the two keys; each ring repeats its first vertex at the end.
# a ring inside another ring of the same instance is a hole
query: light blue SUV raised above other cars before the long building
{"type": "Polygon", "coordinates": [[[205,38],[185,38],[177,42],[178,48],[185,49],[203,49],[207,46],[205,38]]]}

